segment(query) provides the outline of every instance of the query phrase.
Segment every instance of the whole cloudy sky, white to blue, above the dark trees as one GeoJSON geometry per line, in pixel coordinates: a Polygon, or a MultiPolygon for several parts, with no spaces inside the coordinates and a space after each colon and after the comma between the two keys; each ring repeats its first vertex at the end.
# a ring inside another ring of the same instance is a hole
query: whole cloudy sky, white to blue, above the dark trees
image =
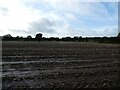
{"type": "Polygon", "coordinates": [[[0,0],[0,36],[118,34],[118,0],[0,0]],[[114,1],[114,2],[113,2],[114,1]]]}

